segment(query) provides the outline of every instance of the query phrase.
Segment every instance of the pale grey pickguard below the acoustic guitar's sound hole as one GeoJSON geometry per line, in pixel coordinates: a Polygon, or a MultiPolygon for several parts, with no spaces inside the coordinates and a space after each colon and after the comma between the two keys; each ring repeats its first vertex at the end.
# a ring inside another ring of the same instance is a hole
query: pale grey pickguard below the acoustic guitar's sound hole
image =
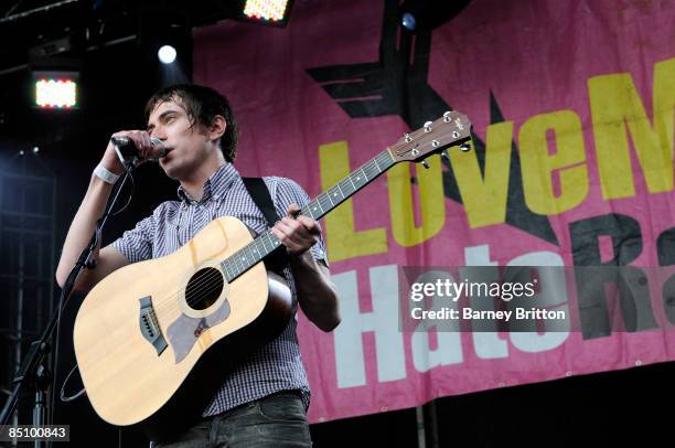
{"type": "Polygon", "coordinates": [[[224,300],[221,307],[208,316],[193,318],[181,313],[181,316],[169,326],[167,337],[173,348],[175,363],[183,361],[194,346],[200,335],[207,329],[223,322],[229,316],[229,301],[224,300]]]}

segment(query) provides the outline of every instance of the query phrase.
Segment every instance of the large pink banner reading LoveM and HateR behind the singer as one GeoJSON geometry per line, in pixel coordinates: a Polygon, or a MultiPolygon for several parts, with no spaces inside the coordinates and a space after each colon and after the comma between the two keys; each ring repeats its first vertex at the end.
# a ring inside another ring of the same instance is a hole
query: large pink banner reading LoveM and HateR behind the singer
{"type": "Polygon", "coordinates": [[[403,266],[675,264],[675,4],[474,0],[411,38],[398,1],[296,3],[285,29],[195,33],[195,82],[231,98],[245,175],[315,196],[449,107],[475,134],[324,220],[343,319],[301,318],[312,422],[675,359],[661,286],[655,324],[632,332],[404,333],[397,318],[403,266]]]}

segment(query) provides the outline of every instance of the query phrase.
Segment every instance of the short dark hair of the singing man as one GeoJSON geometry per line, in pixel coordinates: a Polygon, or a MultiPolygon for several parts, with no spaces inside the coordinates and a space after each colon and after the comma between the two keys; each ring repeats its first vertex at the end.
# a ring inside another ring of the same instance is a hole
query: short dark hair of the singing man
{"type": "Polygon", "coordinates": [[[222,115],[227,127],[221,138],[221,151],[223,151],[225,160],[234,161],[237,153],[238,127],[232,114],[229,102],[225,96],[211,87],[195,84],[175,84],[164,87],[148,99],[146,121],[158,105],[170,100],[176,100],[185,109],[192,126],[199,124],[210,127],[215,116],[222,115]]]}

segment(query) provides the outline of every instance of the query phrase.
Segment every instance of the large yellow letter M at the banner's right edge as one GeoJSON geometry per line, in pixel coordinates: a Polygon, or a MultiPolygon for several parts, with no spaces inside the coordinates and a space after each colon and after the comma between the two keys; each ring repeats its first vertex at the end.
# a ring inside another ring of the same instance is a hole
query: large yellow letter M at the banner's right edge
{"type": "Polygon", "coordinates": [[[604,199],[635,195],[626,124],[650,193],[673,190],[675,58],[654,65],[653,126],[630,74],[591,77],[588,89],[604,199]]]}

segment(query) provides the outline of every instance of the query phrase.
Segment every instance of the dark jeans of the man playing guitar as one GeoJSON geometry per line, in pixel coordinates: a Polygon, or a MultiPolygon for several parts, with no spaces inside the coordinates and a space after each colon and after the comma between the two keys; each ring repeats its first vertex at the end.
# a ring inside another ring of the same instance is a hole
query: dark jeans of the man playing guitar
{"type": "Polygon", "coordinates": [[[293,392],[279,392],[204,419],[161,448],[311,447],[304,405],[293,392]]]}

